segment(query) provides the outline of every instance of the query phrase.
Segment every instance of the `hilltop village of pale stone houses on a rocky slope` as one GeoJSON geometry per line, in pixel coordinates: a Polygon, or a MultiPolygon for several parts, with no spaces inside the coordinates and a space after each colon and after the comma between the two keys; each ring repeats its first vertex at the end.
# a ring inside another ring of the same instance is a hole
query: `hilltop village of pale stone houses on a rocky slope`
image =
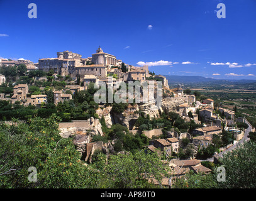
{"type": "MultiPolygon", "coordinates": [[[[189,171],[208,174],[203,160],[218,160],[218,154],[241,141],[254,128],[235,111],[216,107],[211,97],[202,99],[182,89],[170,89],[163,75],[148,66],[135,67],[101,47],[91,57],[69,51],[57,58],[0,60],[0,101],[2,121],[12,117],[28,121],[31,117],[57,114],[62,138],[73,138],[81,160],[93,163],[99,152],[126,154],[133,149],[157,153],[164,165],[174,170],[174,180],[189,171]],[[114,84],[130,81],[162,82],[162,104],[94,102],[94,84],[113,77],[114,84]]],[[[207,167],[206,167],[207,166],[207,167]]],[[[156,181],[155,181],[156,182],[156,181]]],[[[168,186],[168,178],[162,185],[168,186]]]]}

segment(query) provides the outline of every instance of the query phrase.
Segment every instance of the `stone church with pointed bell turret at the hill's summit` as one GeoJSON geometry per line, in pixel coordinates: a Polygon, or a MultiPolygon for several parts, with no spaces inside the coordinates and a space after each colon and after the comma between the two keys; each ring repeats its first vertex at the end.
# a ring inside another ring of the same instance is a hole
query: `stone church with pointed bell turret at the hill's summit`
{"type": "Polygon", "coordinates": [[[96,65],[116,65],[116,56],[104,53],[101,46],[97,48],[96,53],[92,54],[92,63],[96,65]]]}

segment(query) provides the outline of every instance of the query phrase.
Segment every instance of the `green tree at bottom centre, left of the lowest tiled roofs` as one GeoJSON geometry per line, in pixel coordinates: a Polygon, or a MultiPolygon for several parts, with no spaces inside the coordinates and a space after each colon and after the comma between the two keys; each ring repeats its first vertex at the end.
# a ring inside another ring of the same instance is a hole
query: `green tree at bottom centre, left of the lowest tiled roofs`
{"type": "Polygon", "coordinates": [[[166,175],[160,158],[156,154],[146,154],[138,151],[134,155],[112,155],[108,166],[111,188],[148,188],[152,187],[148,180],[155,178],[160,184],[162,175],[166,175]]]}

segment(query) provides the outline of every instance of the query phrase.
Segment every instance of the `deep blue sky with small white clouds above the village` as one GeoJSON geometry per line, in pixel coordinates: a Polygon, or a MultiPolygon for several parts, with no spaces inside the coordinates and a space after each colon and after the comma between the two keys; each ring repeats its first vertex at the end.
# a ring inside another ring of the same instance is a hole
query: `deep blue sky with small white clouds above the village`
{"type": "Polygon", "coordinates": [[[255,22],[255,0],[0,0],[0,58],[38,62],[65,50],[87,58],[100,45],[163,75],[256,80],[255,22]]]}

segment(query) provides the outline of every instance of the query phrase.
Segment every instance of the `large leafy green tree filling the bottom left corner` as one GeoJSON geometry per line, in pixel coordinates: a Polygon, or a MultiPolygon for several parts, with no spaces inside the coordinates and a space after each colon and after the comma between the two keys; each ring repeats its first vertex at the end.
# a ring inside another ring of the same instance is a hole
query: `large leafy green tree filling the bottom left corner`
{"type": "Polygon", "coordinates": [[[92,188],[99,172],[82,165],[70,138],[58,134],[57,116],[0,126],[1,188],[92,188]],[[36,168],[30,182],[28,168],[36,168]],[[81,179],[83,178],[83,179],[81,179]]]}

